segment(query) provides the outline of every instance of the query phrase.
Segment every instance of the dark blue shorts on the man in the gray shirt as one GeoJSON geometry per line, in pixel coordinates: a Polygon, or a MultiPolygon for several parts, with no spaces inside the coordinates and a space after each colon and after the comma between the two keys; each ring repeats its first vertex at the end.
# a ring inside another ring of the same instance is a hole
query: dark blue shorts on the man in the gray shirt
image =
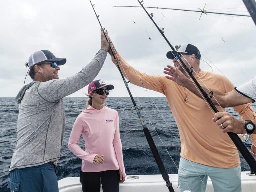
{"type": "Polygon", "coordinates": [[[52,162],[43,165],[14,169],[10,172],[11,192],[58,192],[58,180],[52,162]]]}

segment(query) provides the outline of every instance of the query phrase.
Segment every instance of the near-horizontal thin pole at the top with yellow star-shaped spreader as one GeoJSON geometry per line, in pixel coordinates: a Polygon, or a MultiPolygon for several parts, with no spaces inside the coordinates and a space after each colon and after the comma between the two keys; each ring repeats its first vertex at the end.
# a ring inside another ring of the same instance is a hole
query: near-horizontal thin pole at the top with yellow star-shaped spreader
{"type": "MultiPolygon", "coordinates": [[[[247,1],[247,0],[243,0],[243,1],[247,1]]],[[[253,0],[252,0],[253,1],[253,0]]],[[[205,4],[206,5],[206,4],[205,4]]],[[[204,8],[205,8],[204,5],[204,8]]],[[[118,5],[113,5],[112,7],[141,7],[141,6],[118,6],[118,5]]],[[[210,12],[203,9],[198,8],[200,11],[197,10],[189,10],[189,9],[174,9],[174,8],[165,8],[165,7],[144,7],[144,8],[154,8],[154,9],[169,9],[169,10],[178,10],[178,11],[190,11],[190,12],[200,12],[201,16],[204,13],[206,15],[206,13],[213,13],[213,14],[220,14],[220,15],[233,15],[233,16],[243,16],[243,17],[251,17],[250,15],[240,15],[240,14],[232,14],[232,13],[220,13],[220,12],[210,12]]],[[[254,15],[256,15],[256,13],[254,13],[254,15]]],[[[200,16],[200,18],[201,18],[200,16]]],[[[200,19],[199,18],[199,19],[200,19]]]]}

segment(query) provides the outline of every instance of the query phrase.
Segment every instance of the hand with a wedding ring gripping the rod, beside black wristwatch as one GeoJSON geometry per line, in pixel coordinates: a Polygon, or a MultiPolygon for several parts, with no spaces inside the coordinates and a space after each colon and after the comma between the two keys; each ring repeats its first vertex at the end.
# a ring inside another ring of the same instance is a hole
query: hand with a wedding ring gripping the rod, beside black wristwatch
{"type": "Polygon", "coordinates": [[[233,132],[236,134],[247,133],[244,129],[244,122],[242,120],[238,120],[234,118],[227,112],[218,112],[214,114],[214,118],[212,119],[216,124],[222,129],[223,133],[233,132]],[[223,127],[224,129],[223,129],[223,127]]]}

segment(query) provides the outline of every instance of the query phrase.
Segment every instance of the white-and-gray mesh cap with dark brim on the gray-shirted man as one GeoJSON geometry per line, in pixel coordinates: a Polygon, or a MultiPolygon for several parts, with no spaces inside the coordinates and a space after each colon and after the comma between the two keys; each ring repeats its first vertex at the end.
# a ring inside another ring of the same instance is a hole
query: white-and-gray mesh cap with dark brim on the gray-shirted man
{"type": "Polygon", "coordinates": [[[48,50],[40,50],[32,53],[28,58],[28,66],[31,67],[42,61],[57,62],[58,65],[64,65],[66,63],[65,58],[57,58],[52,52],[48,50]]]}

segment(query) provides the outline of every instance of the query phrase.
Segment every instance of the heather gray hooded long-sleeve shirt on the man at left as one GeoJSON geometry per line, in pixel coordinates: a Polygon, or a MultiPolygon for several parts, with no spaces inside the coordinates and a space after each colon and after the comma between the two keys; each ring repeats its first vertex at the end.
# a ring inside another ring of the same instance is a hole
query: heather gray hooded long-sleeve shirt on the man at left
{"type": "Polygon", "coordinates": [[[85,87],[99,73],[106,59],[103,49],[77,74],[65,79],[33,81],[16,97],[19,104],[16,147],[9,171],[55,161],[65,129],[62,98],[85,87]]]}

